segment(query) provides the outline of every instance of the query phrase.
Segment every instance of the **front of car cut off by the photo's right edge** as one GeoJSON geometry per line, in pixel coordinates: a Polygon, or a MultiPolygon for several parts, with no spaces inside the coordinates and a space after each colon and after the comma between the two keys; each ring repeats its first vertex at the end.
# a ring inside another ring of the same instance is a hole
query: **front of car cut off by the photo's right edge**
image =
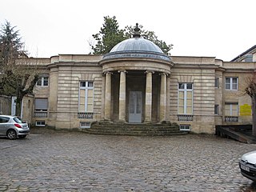
{"type": "Polygon", "coordinates": [[[256,150],[243,154],[239,167],[243,176],[256,182],[256,150]]]}

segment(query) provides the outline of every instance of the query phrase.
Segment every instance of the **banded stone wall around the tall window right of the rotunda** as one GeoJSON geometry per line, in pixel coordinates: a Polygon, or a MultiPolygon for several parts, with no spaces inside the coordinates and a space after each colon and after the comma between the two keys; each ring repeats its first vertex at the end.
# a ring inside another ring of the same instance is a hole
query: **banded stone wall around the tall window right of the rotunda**
{"type": "Polygon", "coordinates": [[[170,75],[170,121],[194,133],[214,134],[214,69],[176,66],[170,75]],[[193,83],[193,121],[178,121],[178,83],[193,83]]]}

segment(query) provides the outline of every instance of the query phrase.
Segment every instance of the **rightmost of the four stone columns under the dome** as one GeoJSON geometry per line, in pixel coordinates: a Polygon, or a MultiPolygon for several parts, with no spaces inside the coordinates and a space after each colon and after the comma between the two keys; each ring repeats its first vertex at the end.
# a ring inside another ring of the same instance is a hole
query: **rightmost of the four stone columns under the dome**
{"type": "Polygon", "coordinates": [[[160,86],[160,122],[166,121],[166,74],[161,75],[160,86]]]}

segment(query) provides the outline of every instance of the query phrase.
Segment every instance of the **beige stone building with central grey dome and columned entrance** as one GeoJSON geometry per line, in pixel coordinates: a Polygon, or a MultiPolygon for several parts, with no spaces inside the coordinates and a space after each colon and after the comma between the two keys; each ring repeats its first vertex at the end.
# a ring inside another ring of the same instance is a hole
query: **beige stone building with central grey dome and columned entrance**
{"type": "Polygon", "coordinates": [[[34,96],[23,100],[22,115],[56,129],[176,122],[181,130],[214,134],[216,125],[251,123],[244,88],[255,61],[255,46],[231,62],[167,56],[135,33],[103,56],[30,58],[42,74],[34,96]]]}

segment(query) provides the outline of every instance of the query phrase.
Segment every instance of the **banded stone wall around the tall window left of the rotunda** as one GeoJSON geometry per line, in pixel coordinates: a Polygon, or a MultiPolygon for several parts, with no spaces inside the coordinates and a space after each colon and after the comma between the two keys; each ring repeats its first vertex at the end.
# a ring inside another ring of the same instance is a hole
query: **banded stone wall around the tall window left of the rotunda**
{"type": "Polygon", "coordinates": [[[101,67],[73,67],[69,66],[69,63],[66,63],[66,65],[67,66],[58,67],[58,82],[55,82],[58,84],[57,104],[55,104],[56,111],[51,112],[51,114],[56,114],[55,127],[59,129],[78,128],[80,121],[95,121],[96,119],[100,119],[102,112],[101,67]],[[80,81],[94,82],[93,119],[78,119],[78,95],[80,81]]]}

